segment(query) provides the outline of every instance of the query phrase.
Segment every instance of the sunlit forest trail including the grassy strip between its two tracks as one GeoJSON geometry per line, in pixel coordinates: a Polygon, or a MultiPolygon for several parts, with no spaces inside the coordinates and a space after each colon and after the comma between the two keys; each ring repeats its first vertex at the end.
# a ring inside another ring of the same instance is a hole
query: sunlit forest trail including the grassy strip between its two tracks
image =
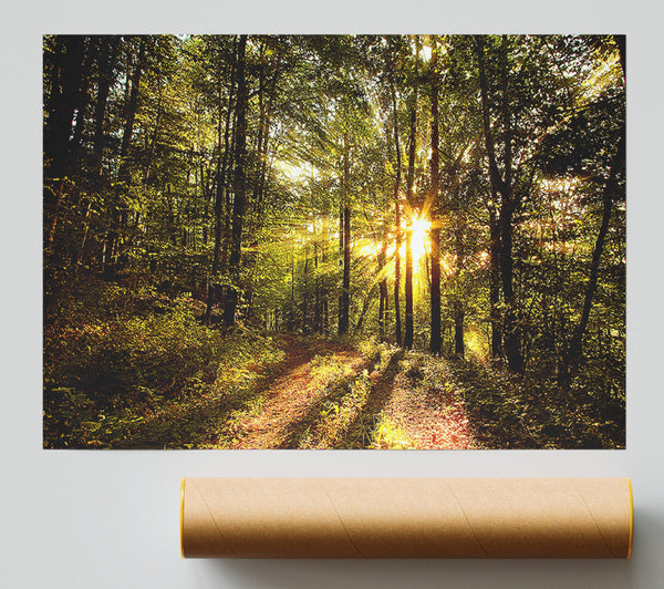
{"type": "Polygon", "coordinates": [[[375,370],[340,343],[299,335],[280,343],[286,355],[262,379],[262,403],[230,424],[231,448],[477,447],[454,385],[414,390],[402,353],[375,370]]]}

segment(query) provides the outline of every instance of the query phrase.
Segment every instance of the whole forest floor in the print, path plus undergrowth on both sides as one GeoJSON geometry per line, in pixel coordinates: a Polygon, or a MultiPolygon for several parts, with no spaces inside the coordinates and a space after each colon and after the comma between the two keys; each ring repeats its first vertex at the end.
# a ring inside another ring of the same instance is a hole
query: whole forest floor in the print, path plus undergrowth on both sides
{"type": "Polygon", "coordinates": [[[474,349],[471,331],[468,360],[436,358],[224,333],[194,319],[191,301],[118,292],[126,318],[82,306],[89,314],[62,312],[71,324],[52,321],[45,333],[44,447],[624,447],[620,400],[510,374],[474,349]]]}

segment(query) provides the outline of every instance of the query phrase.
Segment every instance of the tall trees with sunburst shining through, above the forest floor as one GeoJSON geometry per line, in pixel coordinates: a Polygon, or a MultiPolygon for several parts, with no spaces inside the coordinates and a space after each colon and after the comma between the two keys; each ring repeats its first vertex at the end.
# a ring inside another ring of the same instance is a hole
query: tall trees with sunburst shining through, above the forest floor
{"type": "Polygon", "coordinates": [[[103,349],[118,354],[104,403],[168,396],[157,355],[144,366],[112,334],[176,313],[168,341],[189,319],[215,350],[373,339],[624,406],[624,51],[615,35],[45,35],[44,394],[96,406],[103,349]],[[86,335],[65,345],[71,330],[86,335]]]}

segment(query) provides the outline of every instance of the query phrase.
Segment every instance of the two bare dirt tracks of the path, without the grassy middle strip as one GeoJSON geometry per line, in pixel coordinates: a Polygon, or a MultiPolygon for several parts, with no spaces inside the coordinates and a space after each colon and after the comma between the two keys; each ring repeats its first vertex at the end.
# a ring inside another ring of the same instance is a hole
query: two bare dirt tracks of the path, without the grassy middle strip
{"type": "MultiPolygon", "coordinates": [[[[449,383],[433,391],[411,386],[409,379],[400,373],[401,354],[395,354],[384,370],[372,372],[373,366],[360,352],[339,343],[284,335],[281,345],[286,358],[261,384],[262,404],[232,424],[230,447],[299,447],[302,432],[320,428],[321,411],[329,402],[330,391],[324,372],[317,371],[312,362],[317,355],[344,366],[351,380],[364,369],[371,372],[371,390],[354,416],[355,424],[357,420],[374,424],[373,440],[364,442],[363,447],[477,447],[458,391],[449,383]]],[[[344,427],[353,430],[353,423],[344,427]]]]}

